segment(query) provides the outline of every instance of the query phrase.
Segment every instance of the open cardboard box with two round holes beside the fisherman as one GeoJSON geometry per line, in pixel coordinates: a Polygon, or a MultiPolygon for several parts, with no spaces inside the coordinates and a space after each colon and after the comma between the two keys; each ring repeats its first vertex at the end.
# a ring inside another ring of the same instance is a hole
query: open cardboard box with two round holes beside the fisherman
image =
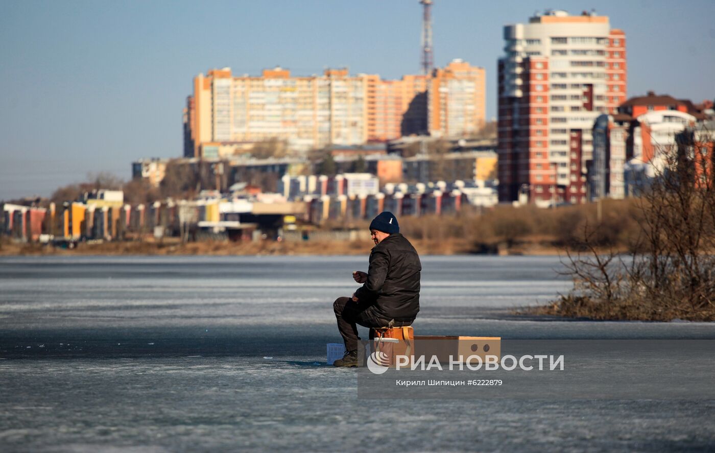
{"type": "Polygon", "coordinates": [[[425,356],[425,363],[429,363],[432,356],[436,356],[440,363],[448,363],[450,355],[455,361],[462,356],[461,362],[473,355],[481,357],[482,360],[487,355],[501,359],[501,337],[415,335],[415,360],[425,356]]]}

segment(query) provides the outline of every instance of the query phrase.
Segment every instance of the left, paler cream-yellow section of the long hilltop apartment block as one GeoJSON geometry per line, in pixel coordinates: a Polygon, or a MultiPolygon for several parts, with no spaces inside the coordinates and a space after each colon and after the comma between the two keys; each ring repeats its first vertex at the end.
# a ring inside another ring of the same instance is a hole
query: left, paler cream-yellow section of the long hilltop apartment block
{"type": "Polygon", "coordinates": [[[229,68],[199,74],[184,119],[193,149],[184,155],[205,157],[202,146],[270,139],[297,149],[362,143],[366,87],[367,76],[350,77],[345,69],[309,77],[280,67],[260,77],[235,77],[229,68]]]}

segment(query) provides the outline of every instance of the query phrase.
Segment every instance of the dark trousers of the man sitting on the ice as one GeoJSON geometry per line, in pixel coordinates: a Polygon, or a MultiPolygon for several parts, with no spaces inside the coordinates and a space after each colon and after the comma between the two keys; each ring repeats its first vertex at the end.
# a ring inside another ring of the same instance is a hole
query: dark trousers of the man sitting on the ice
{"type": "MultiPolygon", "coordinates": [[[[363,327],[388,327],[390,319],[383,319],[375,315],[375,306],[365,302],[352,302],[351,297],[338,297],[332,304],[332,309],[337,318],[337,329],[342,335],[347,351],[355,351],[360,347],[358,326],[363,327]]],[[[395,322],[395,327],[409,326],[412,322],[395,322]]]]}

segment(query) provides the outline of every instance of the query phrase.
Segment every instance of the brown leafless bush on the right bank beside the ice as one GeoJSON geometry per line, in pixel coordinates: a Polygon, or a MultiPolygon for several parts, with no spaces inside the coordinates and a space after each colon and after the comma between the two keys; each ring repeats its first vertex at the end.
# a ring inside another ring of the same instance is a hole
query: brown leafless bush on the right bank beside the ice
{"type": "MultiPolygon", "coordinates": [[[[613,242],[583,227],[581,250],[566,249],[573,290],[542,313],[596,319],[715,320],[715,159],[712,138],[681,135],[659,149],[656,176],[636,202],[638,237],[618,255],[613,242]]],[[[617,231],[617,230],[616,230],[617,231]]],[[[618,232],[621,234],[622,232],[618,232]]],[[[633,239],[633,238],[631,238],[633,239]]]]}

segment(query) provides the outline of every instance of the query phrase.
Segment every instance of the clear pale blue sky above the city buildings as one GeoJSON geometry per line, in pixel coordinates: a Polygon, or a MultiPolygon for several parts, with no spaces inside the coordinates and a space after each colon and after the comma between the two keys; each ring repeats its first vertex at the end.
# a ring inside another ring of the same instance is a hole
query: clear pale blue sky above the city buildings
{"type": "MultiPolygon", "coordinates": [[[[715,98],[713,0],[435,0],[435,64],[484,66],[494,116],[502,26],[593,7],[626,31],[629,97],[715,98]]],[[[421,17],[418,0],[0,0],[0,200],[49,196],[89,172],[129,179],[135,159],[181,156],[182,107],[210,68],[418,73],[421,17]]]]}

